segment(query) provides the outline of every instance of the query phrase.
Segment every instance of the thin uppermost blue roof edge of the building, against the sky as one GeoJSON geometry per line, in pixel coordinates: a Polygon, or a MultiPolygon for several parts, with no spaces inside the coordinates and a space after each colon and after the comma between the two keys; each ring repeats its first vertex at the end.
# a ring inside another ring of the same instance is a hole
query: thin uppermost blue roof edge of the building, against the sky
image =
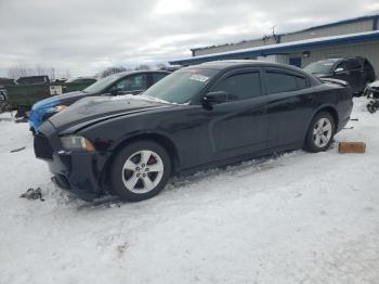
{"type": "MultiPolygon", "coordinates": [[[[323,25],[317,25],[317,26],[313,26],[313,27],[309,27],[309,28],[304,28],[304,29],[300,29],[300,30],[278,34],[276,36],[277,37],[288,36],[288,35],[293,35],[293,34],[298,34],[298,33],[312,31],[312,30],[315,30],[315,29],[318,29],[318,28],[334,27],[334,26],[339,26],[339,25],[357,23],[357,22],[362,22],[362,21],[369,21],[369,20],[377,20],[378,21],[378,18],[379,18],[379,13],[378,12],[374,12],[373,14],[369,14],[369,15],[364,15],[364,16],[358,16],[358,17],[337,21],[337,22],[323,24],[323,25]]],[[[272,38],[272,36],[269,36],[269,38],[272,38]]],[[[252,41],[252,40],[259,40],[259,39],[260,38],[254,38],[254,39],[243,40],[240,42],[235,42],[235,43],[224,43],[224,44],[219,44],[219,46],[208,46],[208,47],[201,47],[201,48],[194,48],[194,49],[191,49],[191,51],[205,50],[205,49],[218,48],[218,47],[224,47],[224,46],[234,46],[234,44],[238,44],[238,43],[243,43],[243,42],[247,42],[247,41],[252,41]]]]}

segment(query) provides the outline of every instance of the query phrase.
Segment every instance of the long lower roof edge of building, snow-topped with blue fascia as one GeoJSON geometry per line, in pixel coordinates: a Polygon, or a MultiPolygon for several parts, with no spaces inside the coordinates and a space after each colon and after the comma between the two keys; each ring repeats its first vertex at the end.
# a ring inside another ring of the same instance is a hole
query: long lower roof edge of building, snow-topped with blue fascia
{"type": "Polygon", "coordinates": [[[265,56],[271,54],[284,54],[289,52],[305,51],[318,48],[334,47],[340,44],[354,44],[379,40],[379,30],[356,33],[341,36],[331,36],[323,38],[312,38],[305,40],[298,40],[285,43],[275,43],[262,47],[254,47],[248,49],[239,49],[227,52],[212,53],[207,55],[199,55],[190,59],[171,61],[170,64],[198,64],[208,61],[244,59],[250,56],[265,56]]]}

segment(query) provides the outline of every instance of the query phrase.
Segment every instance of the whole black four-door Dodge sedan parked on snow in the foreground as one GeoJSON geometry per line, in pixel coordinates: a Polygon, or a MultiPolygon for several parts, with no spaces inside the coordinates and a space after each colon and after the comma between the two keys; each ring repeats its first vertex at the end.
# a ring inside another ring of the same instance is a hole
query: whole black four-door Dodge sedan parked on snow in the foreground
{"type": "Polygon", "coordinates": [[[138,202],[168,179],[273,152],[325,151],[349,120],[352,90],[258,61],[180,69],[140,96],[83,99],[51,117],[35,153],[83,199],[138,202]]]}

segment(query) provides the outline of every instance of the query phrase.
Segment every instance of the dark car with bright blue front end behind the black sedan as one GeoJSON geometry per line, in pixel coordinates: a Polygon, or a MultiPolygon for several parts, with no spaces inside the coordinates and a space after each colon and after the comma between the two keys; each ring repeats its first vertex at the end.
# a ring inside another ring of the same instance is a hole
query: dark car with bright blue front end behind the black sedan
{"type": "Polygon", "coordinates": [[[47,118],[86,96],[139,94],[169,74],[170,72],[166,70],[122,72],[105,77],[82,91],[54,95],[39,101],[31,107],[30,131],[36,132],[47,118]]]}

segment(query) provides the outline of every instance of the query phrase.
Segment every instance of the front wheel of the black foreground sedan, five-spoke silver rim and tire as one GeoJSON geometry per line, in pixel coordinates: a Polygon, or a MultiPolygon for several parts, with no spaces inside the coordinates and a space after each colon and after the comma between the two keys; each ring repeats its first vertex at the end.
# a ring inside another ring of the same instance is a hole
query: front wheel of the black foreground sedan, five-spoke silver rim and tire
{"type": "Polygon", "coordinates": [[[112,188],[121,199],[140,202],[158,194],[170,175],[166,150],[152,141],[138,141],[118,153],[112,166],[112,188]]]}

